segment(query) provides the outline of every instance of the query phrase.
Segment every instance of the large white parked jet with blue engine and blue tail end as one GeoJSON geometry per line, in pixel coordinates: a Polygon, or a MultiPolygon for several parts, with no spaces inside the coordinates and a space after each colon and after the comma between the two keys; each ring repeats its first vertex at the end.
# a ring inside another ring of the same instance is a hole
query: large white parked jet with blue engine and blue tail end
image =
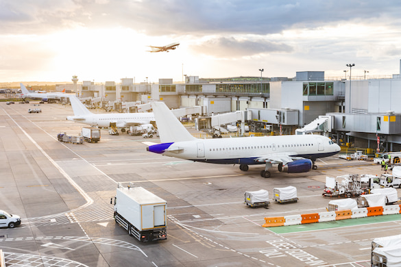
{"type": "MultiPolygon", "coordinates": [[[[317,169],[315,160],[330,157],[341,150],[326,136],[260,136],[242,138],[198,139],[185,129],[163,102],[151,103],[161,144],[150,144],[147,151],[194,162],[249,165],[265,164],[260,176],[269,178],[269,168],[287,167],[287,173],[306,173],[317,169]]],[[[149,144],[149,143],[148,143],[149,144]]]]}

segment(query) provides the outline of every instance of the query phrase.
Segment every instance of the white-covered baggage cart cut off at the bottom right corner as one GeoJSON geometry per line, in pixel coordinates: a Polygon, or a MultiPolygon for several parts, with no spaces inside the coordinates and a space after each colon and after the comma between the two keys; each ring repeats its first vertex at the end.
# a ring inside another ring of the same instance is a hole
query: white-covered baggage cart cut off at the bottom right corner
{"type": "Polygon", "coordinates": [[[401,235],[375,238],[372,241],[371,266],[400,266],[401,235]]]}

